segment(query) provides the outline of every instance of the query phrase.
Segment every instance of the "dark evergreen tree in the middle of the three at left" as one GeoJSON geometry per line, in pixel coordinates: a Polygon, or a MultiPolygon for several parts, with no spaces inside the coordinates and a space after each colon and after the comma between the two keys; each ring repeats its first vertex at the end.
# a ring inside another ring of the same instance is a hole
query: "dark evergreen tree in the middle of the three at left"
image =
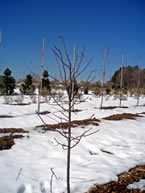
{"type": "Polygon", "coordinates": [[[20,88],[21,93],[23,94],[34,94],[35,86],[33,85],[33,79],[31,74],[28,74],[26,76],[26,79],[24,80],[24,83],[22,83],[20,88]]]}

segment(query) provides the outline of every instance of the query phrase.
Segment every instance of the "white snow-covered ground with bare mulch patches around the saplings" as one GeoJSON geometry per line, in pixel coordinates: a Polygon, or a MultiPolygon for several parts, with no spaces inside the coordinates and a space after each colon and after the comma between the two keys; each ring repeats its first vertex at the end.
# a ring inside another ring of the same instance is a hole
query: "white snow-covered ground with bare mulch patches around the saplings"
{"type": "MultiPolygon", "coordinates": [[[[72,119],[81,120],[94,115],[101,122],[99,126],[80,126],[72,130],[75,136],[89,128],[99,131],[83,138],[72,149],[71,193],[84,193],[94,184],[117,181],[118,174],[145,164],[145,115],[136,120],[102,119],[124,112],[145,112],[145,98],[140,99],[138,107],[136,99],[128,97],[122,105],[129,108],[103,110],[99,109],[100,98],[93,95],[87,97],[86,102],[75,107],[81,111],[73,113],[72,119]]],[[[24,102],[31,102],[29,96],[25,96],[24,102]]],[[[104,99],[104,106],[118,105],[119,100],[114,100],[113,96],[104,99]]],[[[8,105],[4,97],[0,97],[0,115],[13,116],[0,118],[0,128],[14,127],[29,131],[24,138],[15,139],[16,144],[10,150],[0,151],[0,193],[50,193],[52,169],[56,175],[52,180],[53,193],[66,193],[66,151],[56,143],[55,138],[60,142],[65,142],[65,139],[57,132],[44,133],[40,128],[36,129],[35,126],[42,125],[36,111],[37,104],[8,105]]],[[[61,116],[52,100],[49,104],[42,103],[41,111],[50,112],[41,115],[48,124],[57,123],[54,114],[61,116]]]]}

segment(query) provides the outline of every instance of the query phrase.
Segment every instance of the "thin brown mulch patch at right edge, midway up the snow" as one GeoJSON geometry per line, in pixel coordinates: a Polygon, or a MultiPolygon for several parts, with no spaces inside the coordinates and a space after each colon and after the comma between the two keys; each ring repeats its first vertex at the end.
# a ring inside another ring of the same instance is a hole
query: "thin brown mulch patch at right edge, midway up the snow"
{"type": "Polygon", "coordinates": [[[136,117],[143,117],[139,114],[132,113],[123,113],[123,114],[114,114],[103,119],[105,120],[122,120],[122,119],[135,119],[136,117]]]}

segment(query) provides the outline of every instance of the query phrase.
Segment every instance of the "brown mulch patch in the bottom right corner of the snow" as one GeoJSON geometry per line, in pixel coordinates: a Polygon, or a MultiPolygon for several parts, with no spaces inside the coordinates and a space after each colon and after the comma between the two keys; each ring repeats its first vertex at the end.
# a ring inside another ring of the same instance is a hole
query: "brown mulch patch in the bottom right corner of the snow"
{"type": "Polygon", "coordinates": [[[87,193],[145,193],[138,189],[128,189],[127,186],[133,182],[145,179],[145,165],[136,166],[127,172],[118,175],[117,182],[110,182],[104,185],[95,185],[87,193]]]}

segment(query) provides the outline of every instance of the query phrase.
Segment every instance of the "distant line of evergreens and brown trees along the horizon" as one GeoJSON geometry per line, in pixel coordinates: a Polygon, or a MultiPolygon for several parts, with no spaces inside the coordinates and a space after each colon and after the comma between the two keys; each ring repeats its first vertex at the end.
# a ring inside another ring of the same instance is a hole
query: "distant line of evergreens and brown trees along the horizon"
{"type": "MultiPolygon", "coordinates": [[[[127,66],[123,67],[123,89],[132,89],[137,88],[138,82],[138,66],[127,66]]],[[[113,76],[108,82],[105,82],[103,85],[103,89],[106,90],[106,93],[110,92],[110,89],[120,89],[120,76],[121,76],[121,68],[115,71],[113,76]]],[[[16,87],[16,80],[12,76],[12,71],[9,68],[4,70],[3,75],[0,76],[0,94],[11,95],[14,93],[14,89],[16,87]]],[[[48,95],[51,91],[51,88],[59,88],[59,85],[55,81],[50,82],[49,74],[47,70],[43,71],[42,80],[41,80],[41,92],[42,96],[48,95]]],[[[27,74],[24,79],[21,79],[20,83],[20,92],[22,94],[31,95],[34,94],[35,89],[40,88],[38,82],[34,81],[34,77],[31,74],[27,74]]],[[[93,82],[74,82],[74,90],[78,92],[81,90],[84,94],[88,94],[89,90],[93,90],[100,94],[100,90],[102,88],[101,82],[97,81],[93,82]]],[[[140,70],[140,88],[145,89],[145,69],[140,70]]],[[[61,88],[63,89],[63,88],[61,88]]]]}

